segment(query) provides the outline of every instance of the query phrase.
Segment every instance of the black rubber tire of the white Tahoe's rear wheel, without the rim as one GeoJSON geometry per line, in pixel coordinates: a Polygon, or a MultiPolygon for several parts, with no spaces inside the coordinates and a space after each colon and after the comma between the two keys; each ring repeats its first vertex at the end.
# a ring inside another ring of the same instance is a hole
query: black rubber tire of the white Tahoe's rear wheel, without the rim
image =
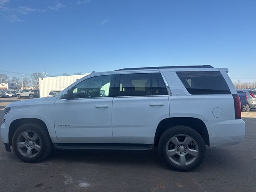
{"type": "Polygon", "coordinates": [[[162,137],[160,138],[158,147],[159,147],[159,153],[161,158],[168,163],[170,168],[177,171],[194,170],[202,163],[205,156],[205,143],[203,138],[200,136],[200,134],[198,134],[198,132],[196,132],[194,129],[187,126],[174,126],[166,130],[164,134],[162,134],[162,137]],[[170,138],[179,134],[185,134],[192,137],[198,144],[198,157],[192,164],[189,164],[187,166],[180,166],[175,164],[169,159],[166,153],[167,142],[170,140],[170,138]]]}

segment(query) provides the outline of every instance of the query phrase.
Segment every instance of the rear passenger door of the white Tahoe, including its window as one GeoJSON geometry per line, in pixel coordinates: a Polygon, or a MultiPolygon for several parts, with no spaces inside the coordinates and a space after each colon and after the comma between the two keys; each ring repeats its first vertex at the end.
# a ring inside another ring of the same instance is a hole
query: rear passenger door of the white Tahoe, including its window
{"type": "Polygon", "coordinates": [[[112,107],[115,143],[153,144],[158,123],[169,117],[160,72],[118,74],[112,107]]]}

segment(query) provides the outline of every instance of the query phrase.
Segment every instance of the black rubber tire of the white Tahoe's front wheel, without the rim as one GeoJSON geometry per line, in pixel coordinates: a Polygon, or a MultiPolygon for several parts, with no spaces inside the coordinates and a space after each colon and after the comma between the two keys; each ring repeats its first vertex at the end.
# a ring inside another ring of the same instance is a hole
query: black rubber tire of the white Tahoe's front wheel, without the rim
{"type": "Polygon", "coordinates": [[[50,155],[50,153],[52,152],[52,148],[53,148],[53,144],[52,141],[50,140],[50,136],[48,134],[48,132],[45,130],[44,127],[37,125],[37,124],[33,124],[33,123],[28,123],[28,124],[24,124],[22,126],[20,126],[13,134],[12,137],[12,149],[14,151],[14,153],[16,154],[16,156],[18,158],[20,158],[22,161],[27,162],[27,163],[36,163],[36,162],[40,162],[42,160],[44,160],[47,156],[50,155]],[[38,154],[36,154],[36,156],[34,157],[25,157],[23,156],[17,147],[17,139],[18,136],[24,132],[24,131],[32,131],[36,134],[38,134],[38,137],[40,138],[40,152],[38,152],[38,154]]]}

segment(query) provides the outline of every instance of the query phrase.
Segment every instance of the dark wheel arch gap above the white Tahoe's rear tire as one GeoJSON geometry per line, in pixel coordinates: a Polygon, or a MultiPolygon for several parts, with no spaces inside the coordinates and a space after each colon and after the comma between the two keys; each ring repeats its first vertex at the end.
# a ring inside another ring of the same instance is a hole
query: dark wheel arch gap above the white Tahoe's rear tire
{"type": "Polygon", "coordinates": [[[210,145],[208,130],[202,120],[192,117],[172,117],[163,119],[158,124],[154,137],[154,146],[158,146],[159,139],[166,129],[176,125],[184,125],[193,128],[202,136],[205,144],[210,145]]]}

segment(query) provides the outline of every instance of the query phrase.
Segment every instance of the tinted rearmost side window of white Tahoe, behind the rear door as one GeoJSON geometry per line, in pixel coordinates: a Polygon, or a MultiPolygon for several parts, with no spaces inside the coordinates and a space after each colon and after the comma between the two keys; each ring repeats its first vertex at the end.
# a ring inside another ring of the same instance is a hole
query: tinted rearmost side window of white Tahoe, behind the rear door
{"type": "Polygon", "coordinates": [[[184,71],[176,74],[192,95],[231,94],[219,71],[184,71]]]}

